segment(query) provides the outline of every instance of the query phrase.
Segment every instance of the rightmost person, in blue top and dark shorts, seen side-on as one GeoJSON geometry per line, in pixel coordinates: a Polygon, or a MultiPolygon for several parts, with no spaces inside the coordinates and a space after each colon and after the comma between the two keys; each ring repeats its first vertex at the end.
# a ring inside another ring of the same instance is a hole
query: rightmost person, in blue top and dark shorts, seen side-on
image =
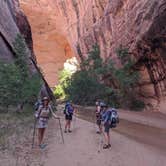
{"type": "Polygon", "coordinates": [[[104,125],[104,136],[106,143],[103,149],[108,149],[111,147],[110,144],[110,128],[111,128],[111,109],[108,109],[107,105],[103,106],[102,121],[104,125]]]}

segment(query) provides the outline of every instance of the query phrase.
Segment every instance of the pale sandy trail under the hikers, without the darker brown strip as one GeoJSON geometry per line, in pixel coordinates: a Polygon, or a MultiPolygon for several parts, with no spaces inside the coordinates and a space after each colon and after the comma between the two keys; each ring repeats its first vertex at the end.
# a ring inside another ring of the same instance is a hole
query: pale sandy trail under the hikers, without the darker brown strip
{"type": "Polygon", "coordinates": [[[98,153],[101,136],[96,135],[94,124],[77,118],[73,125],[73,132],[64,134],[63,145],[58,122],[51,120],[47,131],[51,137],[44,166],[163,166],[166,163],[163,151],[115,131],[111,131],[112,148],[101,149],[98,153]]]}

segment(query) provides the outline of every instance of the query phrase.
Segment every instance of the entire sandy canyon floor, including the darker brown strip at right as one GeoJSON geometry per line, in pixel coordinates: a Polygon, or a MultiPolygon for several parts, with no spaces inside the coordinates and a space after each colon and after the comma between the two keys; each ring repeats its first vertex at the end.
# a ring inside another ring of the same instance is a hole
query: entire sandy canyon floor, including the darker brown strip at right
{"type": "MultiPolygon", "coordinates": [[[[63,115],[62,107],[59,106],[60,116],[63,115]]],[[[104,137],[96,134],[93,119],[87,119],[86,113],[80,112],[73,119],[73,132],[64,133],[65,144],[58,121],[51,119],[45,137],[47,147],[40,150],[35,146],[30,150],[29,142],[29,152],[24,153],[24,158],[29,156],[27,160],[20,158],[17,165],[11,163],[11,166],[164,166],[166,117],[146,112],[120,111],[119,114],[121,121],[111,131],[112,147],[109,150],[102,149],[104,137]]],[[[61,120],[64,126],[64,118],[61,120]]],[[[3,166],[10,164],[6,162],[3,166]]]]}

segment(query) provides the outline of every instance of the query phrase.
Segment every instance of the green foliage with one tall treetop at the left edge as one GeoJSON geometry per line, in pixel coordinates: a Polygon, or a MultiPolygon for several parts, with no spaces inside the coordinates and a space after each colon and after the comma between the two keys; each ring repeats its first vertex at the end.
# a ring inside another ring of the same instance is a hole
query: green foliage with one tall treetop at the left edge
{"type": "Polygon", "coordinates": [[[13,46],[15,61],[0,62],[0,105],[5,107],[36,100],[42,84],[38,74],[29,72],[26,44],[22,36],[17,36],[13,46]]]}

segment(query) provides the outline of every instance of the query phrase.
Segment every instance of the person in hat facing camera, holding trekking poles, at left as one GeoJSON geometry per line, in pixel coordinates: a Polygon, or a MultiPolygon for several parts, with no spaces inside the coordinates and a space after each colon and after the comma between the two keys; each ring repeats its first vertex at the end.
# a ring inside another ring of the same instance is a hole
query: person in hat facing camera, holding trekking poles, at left
{"type": "Polygon", "coordinates": [[[42,103],[39,105],[38,110],[35,113],[37,118],[37,128],[38,128],[38,145],[41,149],[45,148],[46,144],[43,144],[43,138],[45,129],[48,125],[48,119],[50,115],[53,115],[56,119],[59,119],[57,115],[52,111],[49,105],[49,98],[43,97],[42,103]]]}

